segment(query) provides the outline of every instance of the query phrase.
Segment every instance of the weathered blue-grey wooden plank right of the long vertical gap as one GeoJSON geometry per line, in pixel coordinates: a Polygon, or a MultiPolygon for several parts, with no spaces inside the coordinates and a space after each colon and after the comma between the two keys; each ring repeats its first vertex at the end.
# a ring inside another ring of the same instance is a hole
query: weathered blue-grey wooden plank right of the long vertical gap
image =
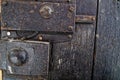
{"type": "Polygon", "coordinates": [[[120,1],[100,0],[93,80],[120,80],[120,1]]]}

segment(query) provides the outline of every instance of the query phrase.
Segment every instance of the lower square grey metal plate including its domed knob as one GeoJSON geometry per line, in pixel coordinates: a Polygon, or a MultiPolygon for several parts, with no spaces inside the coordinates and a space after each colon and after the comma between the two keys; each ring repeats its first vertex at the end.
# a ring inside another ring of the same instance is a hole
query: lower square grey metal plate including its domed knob
{"type": "Polygon", "coordinates": [[[0,69],[8,74],[48,75],[50,44],[37,41],[0,41],[0,69]]]}

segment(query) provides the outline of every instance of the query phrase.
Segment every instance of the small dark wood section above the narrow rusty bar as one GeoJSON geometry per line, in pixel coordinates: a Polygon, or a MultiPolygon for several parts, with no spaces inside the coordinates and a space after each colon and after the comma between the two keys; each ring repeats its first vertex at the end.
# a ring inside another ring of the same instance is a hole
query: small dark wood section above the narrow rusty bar
{"type": "Polygon", "coordinates": [[[77,14],[96,15],[97,0],[76,0],[77,14]]]}

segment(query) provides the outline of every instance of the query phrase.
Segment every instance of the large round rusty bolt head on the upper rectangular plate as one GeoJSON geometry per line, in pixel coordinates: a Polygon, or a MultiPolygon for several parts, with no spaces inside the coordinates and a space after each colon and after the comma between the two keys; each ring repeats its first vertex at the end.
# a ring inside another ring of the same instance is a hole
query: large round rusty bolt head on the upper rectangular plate
{"type": "Polygon", "coordinates": [[[44,5],[41,9],[40,9],[40,14],[43,18],[50,18],[52,16],[53,13],[53,9],[51,6],[48,5],[44,5]]]}

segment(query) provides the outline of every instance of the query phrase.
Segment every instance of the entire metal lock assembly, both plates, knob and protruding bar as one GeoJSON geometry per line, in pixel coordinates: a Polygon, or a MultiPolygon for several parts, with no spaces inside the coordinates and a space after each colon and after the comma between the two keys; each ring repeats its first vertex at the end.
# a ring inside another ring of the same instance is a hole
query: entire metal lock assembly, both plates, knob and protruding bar
{"type": "Polygon", "coordinates": [[[94,22],[95,16],[76,15],[75,0],[4,0],[0,69],[48,75],[50,43],[72,40],[76,23],[94,22]]]}

